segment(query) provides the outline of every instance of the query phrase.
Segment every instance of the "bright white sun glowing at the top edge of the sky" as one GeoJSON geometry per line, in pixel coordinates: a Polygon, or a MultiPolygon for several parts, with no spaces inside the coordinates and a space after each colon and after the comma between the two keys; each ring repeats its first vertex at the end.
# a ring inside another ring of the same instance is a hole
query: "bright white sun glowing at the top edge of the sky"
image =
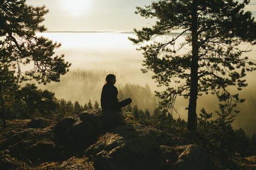
{"type": "Polygon", "coordinates": [[[84,13],[92,0],[60,0],[63,9],[72,13],[74,16],[79,16],[84,13]]]}

